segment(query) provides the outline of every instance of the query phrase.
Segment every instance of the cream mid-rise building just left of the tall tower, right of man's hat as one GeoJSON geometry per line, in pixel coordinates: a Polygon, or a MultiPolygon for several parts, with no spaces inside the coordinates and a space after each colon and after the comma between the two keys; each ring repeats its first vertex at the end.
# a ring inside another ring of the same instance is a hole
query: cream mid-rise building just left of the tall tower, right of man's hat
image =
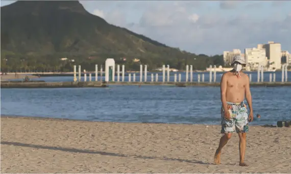
{"type": "Polygon", "coordinates": [[[265,48],[261,48],[259,45],[258,48],[246,48],[245,59],[247,67],[250,69],[257,69],[259,65],[266,67],[268,64],[265,48]]]}

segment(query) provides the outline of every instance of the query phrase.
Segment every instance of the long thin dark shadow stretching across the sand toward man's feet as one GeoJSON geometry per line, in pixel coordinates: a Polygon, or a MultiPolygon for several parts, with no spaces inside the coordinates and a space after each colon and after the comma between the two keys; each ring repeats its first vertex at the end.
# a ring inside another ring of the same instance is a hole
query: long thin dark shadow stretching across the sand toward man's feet
{"type": "Polygon", "coordinates": [[[196,164],[211,164],[211,163],[205,163],[203,161],[197,161],[197,160],[184,160],[184,159],[178,159],[178,158],[161,158],[161,157],[124,155],[124,154],[116,154],[116,153],[109,153],[109,152],[102,152],[102,151],[92,151],[92,150],[82,150],[82,149],[74,149],[74,148],[60,148],[60,147],[41,146],[41,145],[27,144],[27,143],[21,143],[21,142],[1,141],[1,144],[13,145],[13,146],[21,146],[21,147],[29,147],[29,148],[36,148],[36,149],[49,149],[49,150],[72,152],[72,153],[99,154],[99,155],[107,155],[107,156],[134,157],[134,158],[142,158],[142,159],[157,159],[157,160],[179,161],[179,162],[188,162],[188,163],[196,163],[196,164]]]}

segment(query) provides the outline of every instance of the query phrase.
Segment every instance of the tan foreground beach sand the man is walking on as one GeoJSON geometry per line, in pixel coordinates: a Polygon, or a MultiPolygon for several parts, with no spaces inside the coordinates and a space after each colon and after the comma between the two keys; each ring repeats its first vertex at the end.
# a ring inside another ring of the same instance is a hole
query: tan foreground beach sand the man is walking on
{"type": "Polygon", "coordinates": [[[1,118],[2,173],[290,173],[291,128],[250,126],[245,161],[238,135],[213,157],[216,125],[1,118]]]}

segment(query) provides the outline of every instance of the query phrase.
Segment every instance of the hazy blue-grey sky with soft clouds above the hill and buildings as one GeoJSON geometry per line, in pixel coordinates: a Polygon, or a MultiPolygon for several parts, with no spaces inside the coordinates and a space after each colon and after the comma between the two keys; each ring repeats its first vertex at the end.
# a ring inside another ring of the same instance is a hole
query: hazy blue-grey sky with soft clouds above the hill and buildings
{"type": "MultiPolygon", "coordinates": [[[[15,1],[1,1],[1,6],[15,1]]],[[[291,52],[291,1],[80,1],[114,25],[192,53],[275,41],[291,52]]]]}

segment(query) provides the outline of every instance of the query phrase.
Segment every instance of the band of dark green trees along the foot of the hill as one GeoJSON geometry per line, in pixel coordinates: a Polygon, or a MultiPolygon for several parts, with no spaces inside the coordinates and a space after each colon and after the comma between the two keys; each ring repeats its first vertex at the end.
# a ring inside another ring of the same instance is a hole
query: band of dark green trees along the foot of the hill
{"type": "Polygon", "coordinates": [[[187,55],[183,57],[150,57],[142,56],[136,57],[125,56],[122,54],[110,55],[64,55],[52,54],[44,56],[35,55],[19,55],[13,53],[1,52],[1,71],[2,72],[72,72],[74,65],[81,65],[82,69],[87,71],[94,71],[95,64],[105,65],[107,58],[113,58],[115,64],[125,65],[127,71],[138,71],[139,65],[148,65],[148,70],[154,70],[162,67],[162,65],[169,65],[170,68],[178,70],[185,70],[186,65],[192,65],[193,70],[205,70],[209,65],[223,66],[223,56],[214,55],[208,56],[205,54],[200,55],[187,55]],[[67,60],[61,60],[66,57],[67,60]],[[124,60],[125,58],[125,60],[124,60]],[[134,62],[138,59],[138,62],[134,62]]]}

